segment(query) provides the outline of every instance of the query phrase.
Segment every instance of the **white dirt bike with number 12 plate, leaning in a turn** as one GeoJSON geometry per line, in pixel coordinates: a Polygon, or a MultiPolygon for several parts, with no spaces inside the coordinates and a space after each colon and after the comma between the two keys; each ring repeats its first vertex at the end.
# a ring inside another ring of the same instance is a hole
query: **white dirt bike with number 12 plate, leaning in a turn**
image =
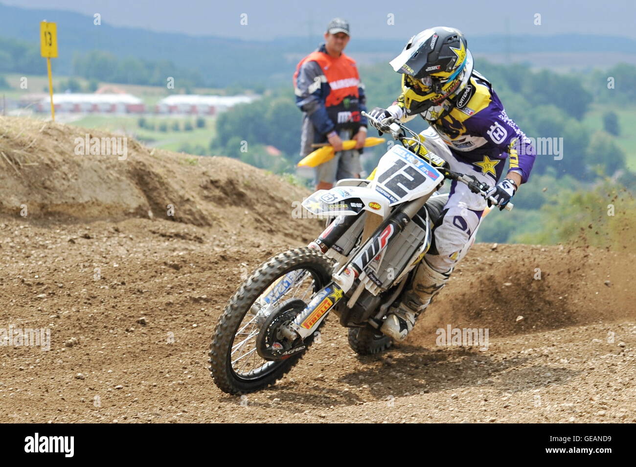
{"type": "Polygon", "coordinates": [[[401,144],[382,156],[370,179],[344,179],[305,199],[307,211],[328,218],[326,229],[307,247],[265,261],[226,305],[209,352],[221,391],[274,384],[319,338],[332,311],[358,354],[391,347],[379,329],[431,246],[448,199],[437,190],[456,180],[497,205],[487,196],[490,186],[450,171],[417,133],[393,119],[375,123],[401,144]]]}

